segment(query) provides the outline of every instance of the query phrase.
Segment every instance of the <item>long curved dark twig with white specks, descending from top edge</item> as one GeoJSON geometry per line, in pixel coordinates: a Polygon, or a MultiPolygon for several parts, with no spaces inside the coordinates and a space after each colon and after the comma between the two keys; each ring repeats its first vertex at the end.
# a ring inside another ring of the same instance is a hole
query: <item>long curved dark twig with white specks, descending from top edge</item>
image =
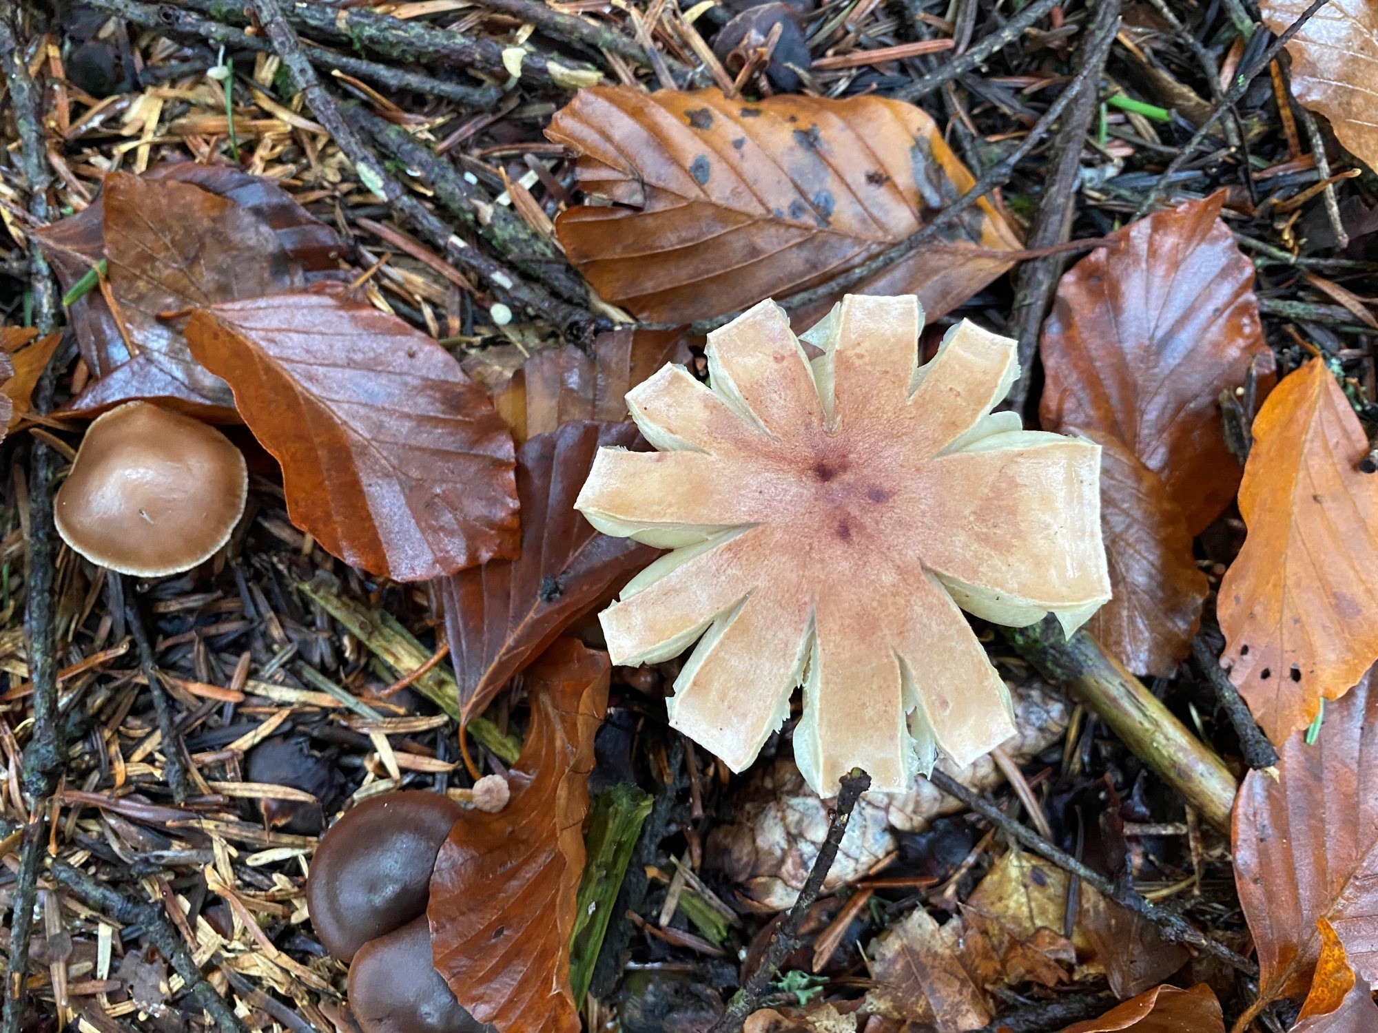
{"type": "Polygon", "coordinates": [[[311,114],[325,127],[344,157],[354,165],[364,186],[386,200],[401,219],[415,226],[431,244],[441,248],[451,262],[482,277],[499,300],[510,302],[546,317],[562,333],[577,342],[593,337],[594,320],[587,311],[559,300],[542,286],[528,284],[517,273],[506,269],[478,248],[470,247],[412,197],[407,187],[383,168],[383,164],[372,149],[358,138],[354,128],[344,121],[335,99],[316,77],[316,70],[302,50],[302,41],[296,39],[296,33],[288,25],[277,0],[254,0],[254,10],[263,23],[263,32],[273,43],[273,50],[282,59],[294,88],[306,95],[311,114]]]}

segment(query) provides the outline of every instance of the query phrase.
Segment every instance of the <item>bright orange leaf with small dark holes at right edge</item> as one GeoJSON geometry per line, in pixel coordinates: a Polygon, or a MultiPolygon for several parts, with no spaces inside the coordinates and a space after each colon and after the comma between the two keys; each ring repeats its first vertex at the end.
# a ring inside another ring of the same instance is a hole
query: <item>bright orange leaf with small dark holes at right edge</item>
{"type": "Polygon", "coordinates": [[[1368,448],[1319,358],[1254,420],[1239,489],[1248,536],[1215,606],[1221,662],[1273,742],[1378,660],[1378,478],[1356,467],[1368,448]]]}

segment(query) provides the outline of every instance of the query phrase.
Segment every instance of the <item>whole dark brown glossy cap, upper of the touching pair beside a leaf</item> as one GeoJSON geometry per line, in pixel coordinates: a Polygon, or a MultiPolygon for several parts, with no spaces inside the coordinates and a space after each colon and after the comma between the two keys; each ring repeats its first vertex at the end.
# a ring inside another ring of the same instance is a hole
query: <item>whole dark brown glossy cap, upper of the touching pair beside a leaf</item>
{"type": "Polygon", "coordinates": [[[426,913],[430,873],[464,808],[431,792],[375,796],[321,837],[306,904],[321,943],[350,961],[364,943],[426,913]]]}

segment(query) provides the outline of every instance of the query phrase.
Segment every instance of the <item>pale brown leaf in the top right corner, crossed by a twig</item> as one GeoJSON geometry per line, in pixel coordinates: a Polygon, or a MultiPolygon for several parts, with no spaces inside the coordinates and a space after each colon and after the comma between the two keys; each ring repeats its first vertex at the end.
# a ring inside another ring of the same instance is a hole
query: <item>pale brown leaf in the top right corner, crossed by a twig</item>
{"type": "MultiPolygon", "coordinates": [[[[1264,23],[1282,34],[1309,7],[1308,0],[1261,0],[1264,23]]],[[[1330,0],[1287,43],[1291,87],[1306,107],[1320,112],[1345,149],[1378,167],[1378,7],[1372,0],[1330,0]]]]}

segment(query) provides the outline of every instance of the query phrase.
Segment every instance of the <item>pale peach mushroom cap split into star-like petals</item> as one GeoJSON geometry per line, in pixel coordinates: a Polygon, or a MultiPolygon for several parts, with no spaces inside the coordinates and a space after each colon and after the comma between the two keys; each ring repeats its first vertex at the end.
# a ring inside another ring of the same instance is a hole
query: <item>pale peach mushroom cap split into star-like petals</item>
{"type": "Polygon", "coordinates": [[[1068,634],[1109,599],[1100,446],[991,413],[1014,342],[970,322],[918,365],[918,299],[847,295],[805,335],[762,302],[708,335],[711,390],[664,366],[627,395],[657,452],[599,449],[576,501],[672,552],[601,614],[615,664],[699,639],[670,723],[740,771],[803,685],[795,760],[905,791],[941,749],[1014,734],[966,618],[1068,634]]]}

